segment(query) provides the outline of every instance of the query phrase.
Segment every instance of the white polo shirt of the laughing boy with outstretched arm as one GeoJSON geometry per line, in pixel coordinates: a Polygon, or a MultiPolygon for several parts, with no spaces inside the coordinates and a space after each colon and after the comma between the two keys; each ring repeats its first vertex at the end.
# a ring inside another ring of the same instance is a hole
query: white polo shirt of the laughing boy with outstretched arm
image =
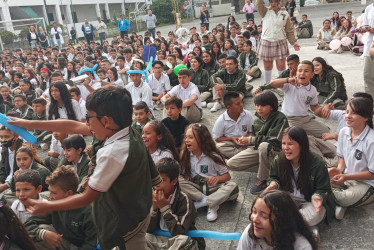
{"type": "Polygon", "coordinates": [[[307,116],[310,105],[318,104],[317,89],[310,83],[300,87],[286,83],[282,90],[284,92],[282,113],[286,116],[307,116]]]}

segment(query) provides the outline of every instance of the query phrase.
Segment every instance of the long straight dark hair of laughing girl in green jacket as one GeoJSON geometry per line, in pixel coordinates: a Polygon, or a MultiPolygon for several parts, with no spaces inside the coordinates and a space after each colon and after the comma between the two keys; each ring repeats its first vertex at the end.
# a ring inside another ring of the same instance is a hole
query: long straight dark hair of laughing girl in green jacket
{"type": "MultiPolygon", "coordinates": [[[[307,196],[310,192],[310,169],[311,169],[311,153],[309,151],[309,140],[305,130],[300,127],[289,127],[283,132],[283,137],[288,136],[291,140],[299,144],[300,155],[299,155],[299,176],[295,180],[293,166],[291,162],[287,160],[284,152],[279,154],[279,173],[280,181],[282,183],[282,189],[284,191],[293,192],[293,182],[296,184],[296,188],[300,192],[307,196]]],[[[296,166],[295,166],[296,167],[296,166]]]]}

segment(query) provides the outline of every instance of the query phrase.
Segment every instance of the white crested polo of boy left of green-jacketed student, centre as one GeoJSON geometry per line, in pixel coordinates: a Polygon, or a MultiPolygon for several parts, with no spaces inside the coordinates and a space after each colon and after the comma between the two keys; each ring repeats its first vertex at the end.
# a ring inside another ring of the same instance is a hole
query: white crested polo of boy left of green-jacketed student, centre
{"type": "Polygon", "coordinates": [[[248,110],[243,110],[238,120],[231,119],[227,111],[220,115],[213,126],[213,138],[220,137],[241,137],[252,131],[253,115],[248,110]]]}

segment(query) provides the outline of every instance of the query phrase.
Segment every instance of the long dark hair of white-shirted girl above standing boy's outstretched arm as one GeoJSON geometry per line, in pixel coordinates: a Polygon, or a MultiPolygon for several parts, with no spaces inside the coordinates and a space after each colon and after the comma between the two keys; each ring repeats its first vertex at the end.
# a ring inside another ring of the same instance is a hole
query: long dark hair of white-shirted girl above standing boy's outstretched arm
{"type": "Polygon", "coordinates": [[[71,95],[69,93],[68,88],[63,82],[56,82],[49,87],[49,95],[51,96],[51,104],[49,105],[49,110],[48,110],[48,120],[54,120],[54,119],[56,120],[60,118],[60,114],[58,113],[57,100],[55,100],[51,95],[52,87],[55,87],[60,91],[60,97],[66,108],[68,119],[77,120],[77,116],[75,115],[75,112],[73,109],[73,102],[71,100],[71,95]]]}

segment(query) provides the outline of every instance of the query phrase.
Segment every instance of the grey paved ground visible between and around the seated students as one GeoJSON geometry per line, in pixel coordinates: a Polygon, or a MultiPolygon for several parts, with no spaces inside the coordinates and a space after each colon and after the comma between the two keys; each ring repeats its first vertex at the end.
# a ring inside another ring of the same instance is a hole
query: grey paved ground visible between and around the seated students
{"type": "MultiPolygon", "coordinates": [[[[372,1],[368,1],[368,4],[372,1]]],[[[311,39],[300,40],[301,51],[298,52],[301,60],[312,60],[316,56],[321,56],[333,65],[335,69],[340,71],[347,85],[348,95],[351,96],[354,92],[363,91],[363,61],[358,56],[354,56],[349,52],[344,54],[330,54],[325,51],[316,50],[316,34],[318,29],[321,27],[322,22],[326,18],[330,18],[334,11],[338,11],[341,14],[346,13],[348,10],[352,10],[354,16],[359,16],[364,6],[361,6],[359,2],[354,3],[338,3],[329,5],[320,5],[313,7],[304,7],[301,9],[300,14],[308,14],[309,18],[314,24],[314,37],[311,39]]],[[[299,17],[298,19],[300,19],[299,17]]],[[[241,23],[245,19],[244,15],[237,15],[237,21],[241,23]]],[[[255,13],[256,23],[260,22],[258,13],[255,13]]],[[[212,18],[211,27],[214,27],[218,23],[226,24],[227,17],[212,18]]],[[[192,25],[198,27],[198,21],[193,23],[185,24],[184,27],[189,28],[192,25]]],[[[162,27],[159,30],[162,34],[167,34],[167,31],[175,29],[175,26],[162,27]]],[[[291,53],[294,50],[291,49],[291,53]]],[[[262,62],[260,67],[263,69],[262,62]]],[[[273,71],[274,77],[276,72],[273,71]]],[[[257,86],[263,84],[263,78],[253,81],[253,85],[257,86]]],[[[253,98],[245,98],[244,107],[254,112],[253,98]]],[[[209,110],[204,109],[204,115],[202,122],[209,128],[213,127],[213,124],[217,117],[223,113],[210,113],[209,110]]],[[[160,116],[158,112],[156,116],[160,116]]],[[[332,130],[335,129],[336,125],[329,123],[332,130]]],[[[240,196],[237,202],[223,204],[219,210],[219,217],[216,222],[209,223],[206,221],[206,210],[200,209],[199,216],[197,218],[198,229],[216,230],[221,232],[242,232],[248,225],[249,219],[249,208],[252,204],[254,196],[250,194],[249,188],[256,182],[256,175],[254,173],[246,172],[232,172],[232,180],[238,183],[240,187],[240,196]]],[[[374,215],[373,215],[374,204],[364,206],[362,208],[350,209],[342,221],[333,221],[330,226],[321,226],[321,249],[374,249],[374,215]]],[[[236,249],[237,241],[217,241],[207,240],[208,249],[236,249]]]]}

